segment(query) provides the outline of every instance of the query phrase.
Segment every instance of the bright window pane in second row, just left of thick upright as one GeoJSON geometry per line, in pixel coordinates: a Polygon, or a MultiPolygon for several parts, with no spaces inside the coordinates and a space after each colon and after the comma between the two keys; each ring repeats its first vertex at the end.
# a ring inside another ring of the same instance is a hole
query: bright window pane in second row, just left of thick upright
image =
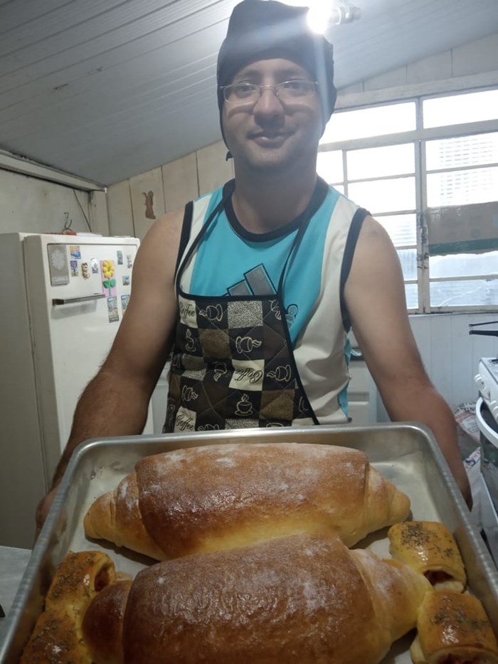
{"type": "Polygon", "coordinates": [[[413,143],[349,150],[346,158],[349,180],[415,173],[413,143]]]}

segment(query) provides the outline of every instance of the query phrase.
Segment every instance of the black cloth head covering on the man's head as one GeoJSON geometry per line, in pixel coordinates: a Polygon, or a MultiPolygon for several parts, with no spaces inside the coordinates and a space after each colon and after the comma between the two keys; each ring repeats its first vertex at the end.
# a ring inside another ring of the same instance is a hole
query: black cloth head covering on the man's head
{"type": "Polygon", "coordinates": [[[233,9],[225,41],[218,53],[216,78],[223,139],[223,90],[235,74],[254,60],[285,57],[304,67],[319,83],[323,127],[337,98],[334,88],[332,44],[310,30],[307,7],[293,7],[277,0],[242,0],[233,9]]]}

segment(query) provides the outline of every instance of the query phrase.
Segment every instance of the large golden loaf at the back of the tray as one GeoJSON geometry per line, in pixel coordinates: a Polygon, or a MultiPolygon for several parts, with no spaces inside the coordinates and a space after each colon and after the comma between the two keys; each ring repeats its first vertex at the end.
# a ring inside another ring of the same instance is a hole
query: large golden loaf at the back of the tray
{"type": "Polygon", "coordinates": [[[359,450],[238,443],[140,460],[90,506],[85,533],[161,560],[317,528],[351,546],[409,510],[359,450]]]}

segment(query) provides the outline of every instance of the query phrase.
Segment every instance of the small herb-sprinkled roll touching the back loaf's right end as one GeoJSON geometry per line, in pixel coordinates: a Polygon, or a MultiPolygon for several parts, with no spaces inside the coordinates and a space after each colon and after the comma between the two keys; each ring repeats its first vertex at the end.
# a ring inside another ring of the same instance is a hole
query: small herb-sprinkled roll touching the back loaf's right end
{"type": "Polygon", "coordinates": [[[425,574],[435,590],[462,592],[467,583],[460,551],[447,527],[435,521],[406,521],[388,530],[391,555],[425,574]]]}

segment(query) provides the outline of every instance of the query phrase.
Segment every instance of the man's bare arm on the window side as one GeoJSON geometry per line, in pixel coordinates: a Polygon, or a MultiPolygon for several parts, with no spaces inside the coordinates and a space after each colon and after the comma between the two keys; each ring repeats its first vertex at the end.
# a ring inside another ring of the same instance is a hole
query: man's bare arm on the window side
{"type": "Polygon", "coordinates": [[[344,297],[354,334],[391,420],[418,421],[430,427],[470,505],[455,418],[420,359],[406,313],[396,250],[383,227],[371,217],[361,228],[344,297]]]}

